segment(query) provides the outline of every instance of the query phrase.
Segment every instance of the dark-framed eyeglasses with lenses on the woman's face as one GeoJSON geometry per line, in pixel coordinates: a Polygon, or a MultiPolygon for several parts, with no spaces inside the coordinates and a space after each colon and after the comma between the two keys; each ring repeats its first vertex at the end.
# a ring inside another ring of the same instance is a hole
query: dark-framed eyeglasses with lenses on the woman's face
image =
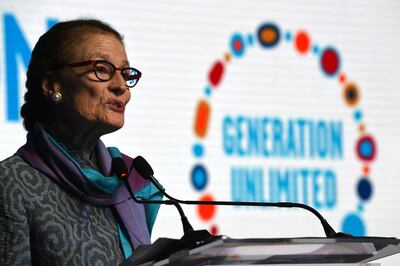
{"type": "Polygon", "coordinates": [[[121,72],[122,77],[125,80],[125,85],[129,88],[133,88],[139,81],[142,73],[133,67],[118,68],[112,63],[105,60],[88,60],[78,63],[61,65],[58,67],[80,67],[88,66],[93,67],[93,72],[100,81],[109,81],[114,77],[117,70],[121,72]]]}

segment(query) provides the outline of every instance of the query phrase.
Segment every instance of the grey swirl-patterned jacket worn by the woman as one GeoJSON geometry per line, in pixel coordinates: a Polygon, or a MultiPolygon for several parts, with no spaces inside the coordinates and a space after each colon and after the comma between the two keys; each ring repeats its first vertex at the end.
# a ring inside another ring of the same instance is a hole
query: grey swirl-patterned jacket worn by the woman
{"type": "Polygon", "coordinates": [[[0,265],[118,265],[110,207],[71,196],[18,156],[0,163],[0,265]]]}

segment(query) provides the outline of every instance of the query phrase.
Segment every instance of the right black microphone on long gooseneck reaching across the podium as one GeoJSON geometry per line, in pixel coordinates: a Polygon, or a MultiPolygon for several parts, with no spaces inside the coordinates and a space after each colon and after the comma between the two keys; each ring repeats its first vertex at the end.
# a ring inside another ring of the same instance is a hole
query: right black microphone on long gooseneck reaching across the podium
{"type": "Polygon", "coordinates": [[[161,185],[158,183],[156,178],[154,177],[154,171],[151,168],[150,164],[142,157],[138,156],[133,160],[133,167],[138,171],[138,173],[145,179],[150,180],[156,188],[169,200],[173,200],[175,202],[181,204],[188,205],[225,205],[225,206],[264,206],[264,207],[279,207],[279,208],[301,208],[305,209],[311,213],[313,213],[321,222],[322,227],[324,229],[325,235],[328,238],[334,237],[352,237],[346,233],[336,233],[336,231],[329,225],[328,221],[313,207],[296,202],[235,202],[235,201],[193,201],[193,200],[180,200],[170,196],[167,192],[165,192],[161,185]]]}

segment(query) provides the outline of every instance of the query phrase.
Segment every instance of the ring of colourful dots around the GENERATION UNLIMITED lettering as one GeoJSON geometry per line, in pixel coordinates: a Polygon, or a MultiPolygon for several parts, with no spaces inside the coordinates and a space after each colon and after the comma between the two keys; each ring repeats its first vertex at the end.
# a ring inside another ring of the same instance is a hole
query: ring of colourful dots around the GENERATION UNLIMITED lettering
{"type": "MultiPolygon", "coordinates": [[[[353,110],[353,121],[357,127],[358,137],[355,140],[355,155],[361,163],[361,173],[355,185],[358,204],[354,210],[349,210],[342,218],[341,231],[362,236],[366,234],[366,225],[362,218],[364,205],[373,195],[371,182],[371,163],[377,155],[375,138],[366,131],[366,123],[362,109],[359,107],[361,92],[358,85],[349,80],[346,73],[341,69],[341,56],[333,46],[323,47],[312,40],[310,34],[305,30],[290,31],[281,30],[276,23],[262,23],[255,32],[248,34],[234,33],[229,39],[229,50],[223,57],[217,59],[208,72],[208,80],[204,86],[203,95],[200,97],[194,115],[194,134],[196,141],[193,143],[192,154],[196,163],[191,170],[191,184],[200,193],[200,200],[214,200],[215,196],[207,192],[207,185],[212,181],[203,160],[206,156],[205,139],[210,124],[212,110],[211,100],[215,89],[222,83],[222,78],[228,70],[232,60],[242,58],[246,50],[254,47],[261,49],[273,49],[280,42],[292,44],[292,48],[300,55],[311,53],[313,59],[318,60],[319,71],[330,80],[338,83],[343,92],[344,104],[353,110]]],[[[199,218],[210,224],[210,231],[218,234],[218,225],[215,223],[216,206],[199,205],[197,213],[199,218]]]]}

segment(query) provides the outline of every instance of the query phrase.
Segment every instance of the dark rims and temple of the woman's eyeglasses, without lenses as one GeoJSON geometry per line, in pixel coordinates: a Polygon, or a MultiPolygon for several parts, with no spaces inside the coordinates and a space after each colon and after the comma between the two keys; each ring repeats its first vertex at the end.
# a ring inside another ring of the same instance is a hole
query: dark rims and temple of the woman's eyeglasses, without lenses
{"type": "Polygon", "coordinates": [[[125,85],[126,85],[127,87],[129,87],[129,88],[135,87],[136,84],[139,82],[139,79],[142,77],[142,72],[140,72],[138,69],[136,69],[136,68],[134,68],[134,67],[119,68],[119,67],[116,67],[113,63],[110,63],[110,62],[108,62],[108,61],[106,61],[106,60],[87,60],[87,61],[76,62],[76,63],[70,63],[70,64],[65,64],[65,65],[58,65],[56,68],[63,68],[63,67],[71,67],[71,68],[74,68],[74,67],[87,66],[87,65],[92,65],[94,74],[96,75],[96,77],[97,77],[100,81],[109,81],[109,80],[111,80],[111,79],[114,77],[115,72],[116,72],[117,70],[120,71],[121,76],[122,76],[122,77],[124,78],[124,80],[125,80],[125,85]],[[112,67],[113,71],[112,71],[112,73],[110,74],[110,78],[109,78],[109,79],[101,78],[101,77],[99,76],[99,74],[97,74],[96,65],[99,64],[99,63],[105,63],[105,64],[108,64],[108,65],[110,65],[110,66],[112,67]],[[134,74],[134,75],[129,75],[129,77],[125,78],[123,72],[126,71],[126,70],[130,70],[130,72],[131,72],[131,71],[134,71],[134,72],[136,72],[136,74],[134,74]],[[129,85],[128,82],[129,82],[129,81],[132,81],[132,80],[136,80],[136,82],[135,82],[133,85],[129,85]]]}

